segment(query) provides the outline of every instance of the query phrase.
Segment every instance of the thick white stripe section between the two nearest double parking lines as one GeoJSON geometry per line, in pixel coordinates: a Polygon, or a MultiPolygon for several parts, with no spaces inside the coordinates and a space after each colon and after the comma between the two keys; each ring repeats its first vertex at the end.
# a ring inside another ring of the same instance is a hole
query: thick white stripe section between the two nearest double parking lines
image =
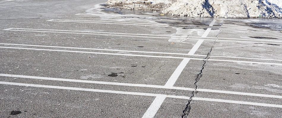
{"type": "Polygon", "coordinates": [[[189,61],[190,61],[190,58],[183,59],[182,62],[178,65],[178,67],[175,69],[175,71],[172,73],[172,75],[170,76],[170,78],[168,79],[167,83],[164,86],[173,86],[189,61]]]}

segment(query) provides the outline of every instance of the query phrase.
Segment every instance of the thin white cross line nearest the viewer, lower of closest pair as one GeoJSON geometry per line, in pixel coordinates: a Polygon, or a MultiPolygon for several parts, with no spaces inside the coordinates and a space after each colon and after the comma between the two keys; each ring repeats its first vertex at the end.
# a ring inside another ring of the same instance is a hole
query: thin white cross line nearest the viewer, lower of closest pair
{"type": "MultiPolygon", "coordinates": [[[[50,86],[50,85],[29,84],[29,83],[14,83],[14,82],[4,82],[4,81],[0,81],[0,84],[16,85],[16,86],[31,86],[31,87],[39,87],[39,88],[50,88],[50,89],[91,91],[91,92],[102,92],[102,93],[113,93],[113,94],[139,95],[139,96],[166,96],[168,98],[190,99],[190,97],[188,97],[188,96],[172,96],[172,95],[164,95],[164,94],[151,94],[151,93],[128,92],[128,91],[85,89],[85,88],[76,88],[76,87],[50,86]]],[[[224,100],[224,99],[210,99],[210,98],[198,98],[198,97],[193,97],[193,99],[194,100],[200,100],[200,101],[216,101],[216,102],[225,102],[225,103],[233,103],[233,104],[246,104],[246,105],[268,106],[268,107],[282,108],[282,105],[278,105],[278,104],[264,104],[264,103],[255,103],[255,102],[233,101],[233,100],[224,100]]]]}

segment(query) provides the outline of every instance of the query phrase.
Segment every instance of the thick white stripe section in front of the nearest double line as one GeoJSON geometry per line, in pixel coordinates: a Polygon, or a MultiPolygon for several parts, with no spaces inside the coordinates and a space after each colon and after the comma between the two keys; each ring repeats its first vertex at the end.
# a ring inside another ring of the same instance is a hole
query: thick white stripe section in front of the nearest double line
{"type": "Polygon", "coordinates": [[[156,98],[154,99],[152,104],[149,106],[149,108],[147,109],[145,114],[142,116],[142,118],[153,118],[155,114],[158,112],[165,98],[166,98],[165,95],[156,96],[156,98]]]}

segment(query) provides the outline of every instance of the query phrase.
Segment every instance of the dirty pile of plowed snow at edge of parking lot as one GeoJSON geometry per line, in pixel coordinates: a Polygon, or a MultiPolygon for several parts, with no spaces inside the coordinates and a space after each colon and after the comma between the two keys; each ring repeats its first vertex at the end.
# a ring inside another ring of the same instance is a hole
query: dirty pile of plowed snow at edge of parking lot
{"type": "Polygon", "coordinates": [[[281,0],[109,0],[106,4],[187,17],[282,18],[281,0]]]}

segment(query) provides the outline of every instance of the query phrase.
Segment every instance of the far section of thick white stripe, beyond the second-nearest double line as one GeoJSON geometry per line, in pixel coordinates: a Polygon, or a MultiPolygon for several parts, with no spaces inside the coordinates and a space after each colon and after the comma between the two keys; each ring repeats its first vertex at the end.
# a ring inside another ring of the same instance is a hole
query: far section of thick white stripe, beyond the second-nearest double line
{"type": "MultiPolygon", "coordinates": [[[[214,19],[209,26],[213,26],[213,24],[216,22],[216,19],[214,19]]],[[[202,37],[207,37],[207,35],[210,33],[211,28],[207,28],[207,30],[205,31],[205,33],[202,35],[202,37]]],[[[199,39],[197,41],[197,43],[192,47],[192,49],[189,51],[189,55],[193,55],[196,53],[196,51],[199,49],[199,47],[202,45],[202,43],[204,42],[204,40],[199,39]]]]}

